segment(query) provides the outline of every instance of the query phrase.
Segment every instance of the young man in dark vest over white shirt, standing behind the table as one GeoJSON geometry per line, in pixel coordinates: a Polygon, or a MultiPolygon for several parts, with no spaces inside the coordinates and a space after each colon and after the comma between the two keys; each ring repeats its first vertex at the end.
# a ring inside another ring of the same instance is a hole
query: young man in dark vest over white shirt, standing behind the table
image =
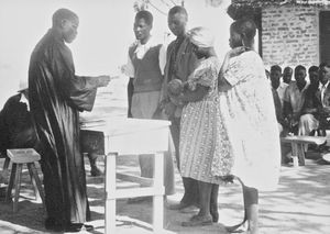
{"type": "MultiPolygon", "coordinates": [[[[155,119],[161,100],[166,47],[155,42],[151,35],[152,27],[152,13],[139,11],[134,21],[136,42],[129,48],[128,64],[123,70],[133,85],[133,96],[129,111],[132,118],[135,119],[155,119]]],[[[153,156],[140,155],[139,163],[141,176],[152,178],[154,172],[153,156]]],[[[172,194],[174,192],[174,169],[169,154],[166,154],[164,165],[165,194],[172,194]]],[[[144,198],[130,199],[130,202],[142,201],[144,198]]]]}

